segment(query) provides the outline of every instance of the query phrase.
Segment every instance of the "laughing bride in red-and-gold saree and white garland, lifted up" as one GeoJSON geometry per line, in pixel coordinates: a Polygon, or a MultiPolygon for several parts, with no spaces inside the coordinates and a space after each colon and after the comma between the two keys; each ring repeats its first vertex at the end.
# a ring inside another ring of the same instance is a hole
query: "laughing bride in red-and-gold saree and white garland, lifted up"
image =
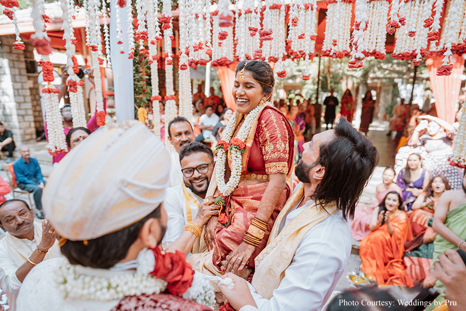
{"type": "Polygon", "coordinates": [[[243,61],[232,95],[236,114],[217,143],[215,178],[209,193],[224,199],[221,213],[205,225],[188,262],[202,273],[222,275],[254,267],[289,194],[295,136],[283,114],[270,105],[274,74],[263,61],[243,61]],[[222,269],[223,266],[223,269],[222,269]]]}

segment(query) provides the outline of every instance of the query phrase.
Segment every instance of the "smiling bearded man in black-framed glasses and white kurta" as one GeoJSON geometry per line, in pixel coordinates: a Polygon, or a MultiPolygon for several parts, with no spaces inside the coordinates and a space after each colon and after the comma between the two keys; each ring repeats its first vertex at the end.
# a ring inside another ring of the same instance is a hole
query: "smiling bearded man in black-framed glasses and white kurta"
{"type": "Polygon", "coordinates": [[[194,223],[202,228],[219,209],[213,205],[214,199],[206,199],[214,172],[212,150],[201,143],[191,142],[181,149],[180,164],[183,182],[168,188],[164,201],[168,216],[167,231],[162,240],[164,249],[182,235],[186,224],[194,223]]]}

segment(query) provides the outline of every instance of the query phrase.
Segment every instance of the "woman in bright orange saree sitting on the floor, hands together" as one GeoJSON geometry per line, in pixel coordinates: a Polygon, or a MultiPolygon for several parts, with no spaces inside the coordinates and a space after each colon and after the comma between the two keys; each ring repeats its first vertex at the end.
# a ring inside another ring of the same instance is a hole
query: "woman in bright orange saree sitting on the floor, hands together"
{"type": "Polygon", "coordinates": [[[361,241],[361,269],[377,281],[377,285],[413,287],[403,263],[404,242],[413,239],[407,214],[399,209],[401,196],[387,193],[378,209],[374,209],[371,233],[361,241]]]}

